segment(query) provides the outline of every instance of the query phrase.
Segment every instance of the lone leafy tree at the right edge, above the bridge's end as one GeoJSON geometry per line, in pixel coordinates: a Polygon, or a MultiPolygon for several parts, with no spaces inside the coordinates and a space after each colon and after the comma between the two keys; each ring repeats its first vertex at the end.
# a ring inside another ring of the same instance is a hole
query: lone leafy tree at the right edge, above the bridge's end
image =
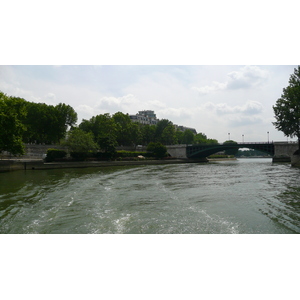
{"type": "Polygon", "coordinates": [[[297,137],[300,151],[300,66],[294,69],[273,110],[276,119],[273,125],[285,136],[297,137]]]}

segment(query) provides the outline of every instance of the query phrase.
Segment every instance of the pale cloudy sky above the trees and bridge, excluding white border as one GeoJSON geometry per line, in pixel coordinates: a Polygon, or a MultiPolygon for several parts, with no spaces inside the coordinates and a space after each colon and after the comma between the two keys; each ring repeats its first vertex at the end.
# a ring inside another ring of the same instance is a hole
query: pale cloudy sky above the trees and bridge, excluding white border
{"type": "Polygon", "coordinates": [[[0,90],[71,105],[82,119],[154,110],[224,142],[291,141],[272,106],[296,65],[1,65],[0,90]],[[269,133],[268,133],[269,132],[269,133]]]}

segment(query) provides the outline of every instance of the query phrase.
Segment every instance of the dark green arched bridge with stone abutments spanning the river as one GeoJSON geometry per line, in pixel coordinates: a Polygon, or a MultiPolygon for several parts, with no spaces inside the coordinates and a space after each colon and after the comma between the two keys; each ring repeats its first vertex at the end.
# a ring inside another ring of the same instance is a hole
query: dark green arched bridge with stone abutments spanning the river
{"type": "Polygon", "coordinates": [[[291,161],[291,157],[298,149],[295,142],[255,142],[255,143],[223,143],[223,144],[197,144],[197,145],[169,145],[168,153],[177,158],[200,159],[230,149],[254,149],[273,157],[273,161],[291,161]]]}

